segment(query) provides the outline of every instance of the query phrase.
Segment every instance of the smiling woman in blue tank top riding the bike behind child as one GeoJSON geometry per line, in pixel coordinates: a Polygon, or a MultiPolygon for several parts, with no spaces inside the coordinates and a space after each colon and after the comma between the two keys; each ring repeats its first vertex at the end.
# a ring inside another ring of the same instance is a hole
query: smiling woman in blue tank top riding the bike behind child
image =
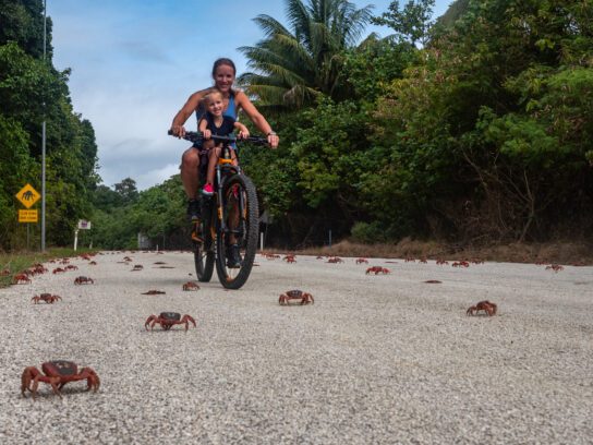
{"type": "MultiPolygon", "coordinates": [[[[251,103],[247,95],[243,92],[232,88],[234,79],[237,76],[237,69],[234,63],[230,59],[218,59],[214,62],[213,79],[214,86],[196,92],[190,96],[183,108],[173,118],[171,124],[171,131],[176,136],[183,136],[185,129],[183,124],[195,111],[197,122],[202,119],[206,109],[202,104],[202,99],[206,94],[213,89],[218,89],[222,94],[223,111],[225,116],[230,116],[237,119],[239,110],[243,110],[249,118],[253,121],[255,127],[267,135],[268,144],[276,148],[278,146],[278,135],[271,130],[271,127],[266,119],[257,111],[257,108],[251,103]]],[[[195,220],[199,218],[199,205],[196,200],[197,188],[199,184],[198,167],[199,167],[199,146],[193,145],[187,148],[181,157],[181,181],[183,188],[187,194],[187,215],[191,219],[195,220]]]]}

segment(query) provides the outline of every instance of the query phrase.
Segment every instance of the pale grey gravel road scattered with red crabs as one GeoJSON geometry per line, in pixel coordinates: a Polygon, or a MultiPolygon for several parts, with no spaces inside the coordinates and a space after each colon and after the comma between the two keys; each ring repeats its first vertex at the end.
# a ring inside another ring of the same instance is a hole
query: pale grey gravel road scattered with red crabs
{"type": "Polygon", "coordinates": [[[0,289],[0,443],[593,443],[593,267],[257,255],[240,290],[215,275],[183,291],[191,253],[126,254],[0,289]],[[280,306],[295,288],[315,304],[280,306]],[[486,299],[497,315],[465,315],[486,299]],[[197,328],[146,332],[165,311],[197,328]],[[49,360],[93,368],[99,392],[21,397],[24,368],[49,360]]]}

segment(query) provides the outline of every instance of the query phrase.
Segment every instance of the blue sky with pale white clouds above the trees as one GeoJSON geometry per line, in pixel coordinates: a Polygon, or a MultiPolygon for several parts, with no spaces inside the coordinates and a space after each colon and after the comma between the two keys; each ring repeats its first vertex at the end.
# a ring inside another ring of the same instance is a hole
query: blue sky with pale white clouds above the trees
{"type": "MultiPolygon", "coordinates": [[[[391,0],[374,4],[374,15],[391,0]]],[[[406,4],[400,0],[399,4],[406,4]]],[[[436,0],[435,16],[452,0],[436,0]]],[[[231,58],[238,74],[246,60],[238,50],[264,35],[253,19],[267,14],[285,23],[285,0],[46,0],[53,23],[53,65],[71,69],[74,112],[95,129],[99,175],[113,187],[124,178],[138,190],[179,172],[189,144],[167,136],[190,95],[211,85],[213,63],[231,58]]],[[[391,34],[368,26],[364,35],[391,34]]],[[[195,130],[190,118],[185,124],[195,130]]],[[[48,129],[48,131],[50,131],[48,129]]]]}

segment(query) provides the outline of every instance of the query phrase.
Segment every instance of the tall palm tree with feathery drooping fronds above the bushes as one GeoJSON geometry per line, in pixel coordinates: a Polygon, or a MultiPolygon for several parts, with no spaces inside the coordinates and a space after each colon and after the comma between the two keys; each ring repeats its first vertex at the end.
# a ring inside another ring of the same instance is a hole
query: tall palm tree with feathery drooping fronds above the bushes
{"type": "Polygon", "coordinates": [[[291,31],[269,15],[254,19],[266,37],[239,48],[252,70],[239,83],[267,106],[299,107],[318,94],[339,97],[340,53],[358,43],[373,7],[356,10],[347,0],[286,2],[291,31]]]}

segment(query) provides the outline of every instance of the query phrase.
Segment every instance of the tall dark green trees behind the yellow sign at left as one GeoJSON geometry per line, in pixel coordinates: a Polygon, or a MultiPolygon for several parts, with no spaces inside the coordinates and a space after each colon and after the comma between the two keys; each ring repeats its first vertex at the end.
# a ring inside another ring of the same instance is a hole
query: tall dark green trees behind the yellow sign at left
{"type": "Polygon", "coordinates": [[[99,181],[95,134],[90,122],[72,109],[69,70],[58,72],[51,65],[49,20],[49,51],[46,61],[41,60],[43,2],[0,1],[0,248],[23,244],[14,193],[27,182],[41,191],[44,121],[47,241],[65,245],[71,242],[76,221],[88,219],[92,213],[88,193],[99,181]]]}

